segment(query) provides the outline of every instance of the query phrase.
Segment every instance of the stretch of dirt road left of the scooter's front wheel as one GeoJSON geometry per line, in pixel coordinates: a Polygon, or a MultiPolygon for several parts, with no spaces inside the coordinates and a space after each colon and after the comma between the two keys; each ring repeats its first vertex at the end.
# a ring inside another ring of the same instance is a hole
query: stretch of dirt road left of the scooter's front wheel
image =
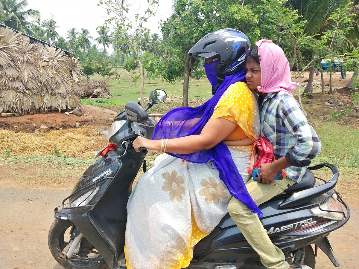
{"type": "Polygon", "coordinates": [[[1,269],[63,269],[52,258],[47,233],[53,209],[69,194],[70,190],[0,188],[1,269]]]}

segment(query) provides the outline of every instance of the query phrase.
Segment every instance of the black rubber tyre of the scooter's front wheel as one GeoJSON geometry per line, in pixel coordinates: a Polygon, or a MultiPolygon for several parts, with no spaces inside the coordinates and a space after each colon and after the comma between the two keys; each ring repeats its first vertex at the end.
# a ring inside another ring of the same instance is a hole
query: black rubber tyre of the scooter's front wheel
{"type": "Polygon", "coordinates": [[[65,242],[64,235],[67,228],[72,225],[71,221],[55,219],[50,227],[50,231],[48,232],[48,247],[51,251],[53,258],[64,268],[66,269],[105,269],[108,268],[108,264],[106,261],[101,260],[98,263],[97,260],[89,260],[89,261],[77,261],[66,259],[59,259],[59,254],[64,249],[64,247],[68,244],[65,242]]]}

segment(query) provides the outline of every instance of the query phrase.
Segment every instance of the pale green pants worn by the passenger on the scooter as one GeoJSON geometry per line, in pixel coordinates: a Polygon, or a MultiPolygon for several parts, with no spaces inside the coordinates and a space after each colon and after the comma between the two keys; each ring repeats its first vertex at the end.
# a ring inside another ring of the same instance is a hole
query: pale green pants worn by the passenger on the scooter
{"type": "MultiPolygon", "coordinates": [[[[258,183],[257,181],[250,179],[247,182],[246,187],[257,206],[259,206],[284,192],[285,189],[289,188],[294,183],[295,181],[289,178],[275,180],[270,184],[258,183]]],[[[266,268],[289,268],[289,264],[284,259],[283,252],[273,245],[257,214],[253,214],[246,205],[234,197],[232,197],[228,204],[228,213],[232,217],[234,223],[238,226],[239,230],[241,230],[244,238],[258,253],[261,258],[261,263],[266,266],[266,268]]]]}

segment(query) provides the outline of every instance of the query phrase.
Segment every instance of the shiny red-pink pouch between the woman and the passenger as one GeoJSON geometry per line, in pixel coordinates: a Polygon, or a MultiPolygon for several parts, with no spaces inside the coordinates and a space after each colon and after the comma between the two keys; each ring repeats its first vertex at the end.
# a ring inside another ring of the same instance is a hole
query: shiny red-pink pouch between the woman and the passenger
{"type": "MultiPolygon", "coordinates": [[[[248,173],[251,175],[253,168],[261,168],[261,164],[270,164],[275,161],[273,154],[273,145],[265,140],[262,136],[252,144],[252,156],[249,165],[248,173]],[[254,163],[254,157],[257,153],[257,161],[254,163]]],[[[282,169],[282,176],[286,177],[287,173],[282,169]]]]}

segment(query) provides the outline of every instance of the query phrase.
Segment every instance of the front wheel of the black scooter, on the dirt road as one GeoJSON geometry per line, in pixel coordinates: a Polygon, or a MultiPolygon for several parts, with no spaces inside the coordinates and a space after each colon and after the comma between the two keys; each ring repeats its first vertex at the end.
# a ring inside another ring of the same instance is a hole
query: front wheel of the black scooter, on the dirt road
{"type": "Polygon", "coordinates": [[[48,232],[48,247],[53,258],[66,269],[105,269],[108,264],[94,247],[83,237],[81,239],[80,250],[77,255],[70,259],[62,260],[59,258],[62,250],[70,241],[70,228],[72,222],[68,220],[55,219],[48,232]]]}

